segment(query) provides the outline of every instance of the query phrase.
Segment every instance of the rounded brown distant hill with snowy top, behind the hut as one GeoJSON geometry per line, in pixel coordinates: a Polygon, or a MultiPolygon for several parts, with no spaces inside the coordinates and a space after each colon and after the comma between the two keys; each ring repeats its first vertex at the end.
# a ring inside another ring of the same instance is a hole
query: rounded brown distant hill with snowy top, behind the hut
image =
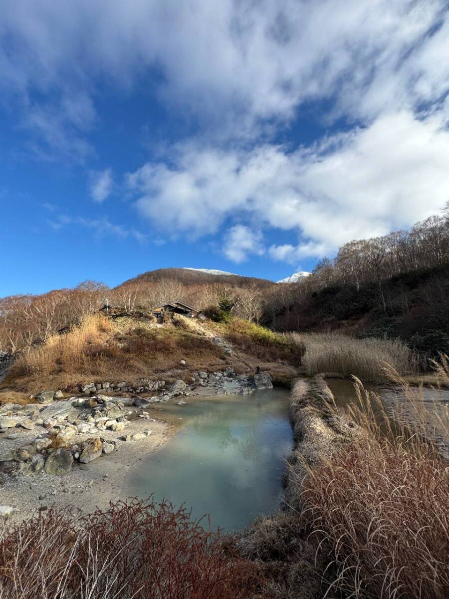
{"type": "Polygon", "coordinates": [[[236,286],[248,283],[258,283],[259,285],[266,286],[274,285],[274,282],[266,279],[242,277],[238,274],[226,273],[220,270],[208,270],[207,268],[157,268],[157,270],[138,274],[136,277],[126,280],[119,287],[131,285],[132,283],[156,283],[162,279],[177,280],[184,285],[201,285],[202,283],[229,283],[236,286]]]}

